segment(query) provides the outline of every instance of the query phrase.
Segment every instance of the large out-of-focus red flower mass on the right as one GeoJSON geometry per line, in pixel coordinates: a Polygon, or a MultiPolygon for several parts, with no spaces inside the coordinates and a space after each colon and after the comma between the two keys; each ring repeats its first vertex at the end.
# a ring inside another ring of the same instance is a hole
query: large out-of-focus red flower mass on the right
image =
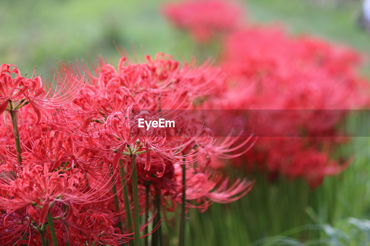
{"type": "Polygon", "coordinates": [[[346,140],[337,126],[349,110],[369,106],[355,51],[279,27],[249,27],[226,38],[222,57],[229,91],[221,104],[250,110],[262,136],[239,161],[312,187],[344,170],[348,162],[331,159],[346,140]]]}

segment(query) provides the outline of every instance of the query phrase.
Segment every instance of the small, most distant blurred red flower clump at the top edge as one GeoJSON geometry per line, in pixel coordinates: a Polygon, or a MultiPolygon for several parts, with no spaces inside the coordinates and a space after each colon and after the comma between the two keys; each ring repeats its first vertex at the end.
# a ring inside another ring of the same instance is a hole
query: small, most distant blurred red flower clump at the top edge
{"type": "Polygon", "coordinates": [[[224,0],[183,1],[167,3],[163,7],[165,16],[177,27],[183,28],[198,42],[239,26],[242,7],[224,0]]]}

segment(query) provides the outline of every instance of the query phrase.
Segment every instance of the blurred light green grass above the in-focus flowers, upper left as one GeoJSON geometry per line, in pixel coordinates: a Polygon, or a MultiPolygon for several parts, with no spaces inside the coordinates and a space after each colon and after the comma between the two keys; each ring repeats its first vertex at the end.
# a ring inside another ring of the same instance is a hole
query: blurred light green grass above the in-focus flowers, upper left
{"type": "MultiPolygon", "coordinates": [[[[23,73],[50,73],[56,60],[118,56],[114,42],[139,57],[165,52],[189,58],[158,3],[118,0],[2,1],[0,59],[23,73]],[[180,50],[180,52],[178,52],[180,50]]],[[[188,47],[188,45],[183,45],[188,47]]]]}

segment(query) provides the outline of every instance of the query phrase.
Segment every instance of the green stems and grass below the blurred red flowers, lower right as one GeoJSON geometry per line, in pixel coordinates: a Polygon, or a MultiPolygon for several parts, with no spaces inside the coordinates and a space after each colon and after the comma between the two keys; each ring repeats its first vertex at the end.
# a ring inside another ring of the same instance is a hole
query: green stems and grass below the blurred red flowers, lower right
{"type": "MultiPolygon", "coordinates": [[[[369,130],[365,122],[368,122],[367,115],[359,115],[351,117],[346,126],[356,131],[354,136],[361,136],[369,130]]],[[[195,246],[347,245],[342,242],[344,239],[333,243],[339,234],[329,239],[325,236],[331,231],[347,230],[342,226],[343,218],[369,218],[369,146],[369,137],[353,137],[337,153],[351,156],[353,163],[342,174],[325,178],[314,190],[303,180],[287,181],[280,177],[270,182],[261,174],[253,174],[256,183],[245,197],[227,205],[212,204],[204,213],[190,211],[188,243],[195,246]],[[337,226],[340,229],[336,229],[337,226]]],[[[348,245],[364,240],[361,233],[348,230],[349,242],[354,241],[348,245]]],[[[171,237],[175,231],[169,229],[168,233],[171,237]]]]}

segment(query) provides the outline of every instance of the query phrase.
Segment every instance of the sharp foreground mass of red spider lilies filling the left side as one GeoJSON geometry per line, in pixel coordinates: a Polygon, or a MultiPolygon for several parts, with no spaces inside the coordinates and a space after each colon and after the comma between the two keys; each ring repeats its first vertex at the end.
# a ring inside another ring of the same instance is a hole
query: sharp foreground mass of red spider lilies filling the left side
{"type": "Polygon", "coordinates": [[[181,205],[184,218],[249,191],[252,182],[231,182],[211,165],[236,140],[216,141],[183,113],[223,83],[219,68],[165,54],[91,66],[62,62],[54,83],[1,66],[1,245],[162,240],[166,211],[181,205]],[[176,127],[138,127],[161,117],[176,127]]]}

